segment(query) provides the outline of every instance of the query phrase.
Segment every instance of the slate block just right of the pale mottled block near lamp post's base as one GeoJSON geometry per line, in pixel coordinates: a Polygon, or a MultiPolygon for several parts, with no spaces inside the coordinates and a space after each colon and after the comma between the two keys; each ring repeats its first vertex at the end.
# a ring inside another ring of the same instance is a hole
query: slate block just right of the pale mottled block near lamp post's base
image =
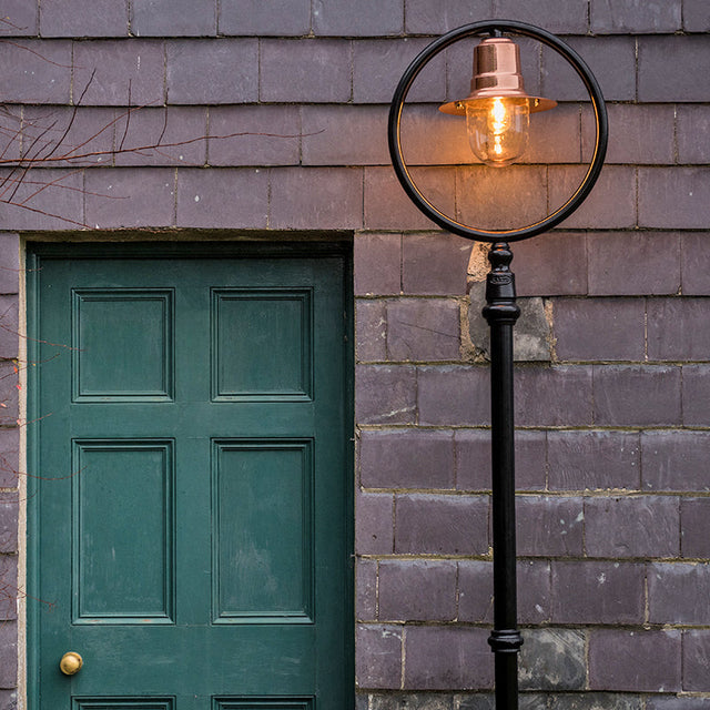
{"type": "Polygon", "coordinates": [[[590,630],[589,688],[630,692],[680,690],[681,632],[590,630]]]}

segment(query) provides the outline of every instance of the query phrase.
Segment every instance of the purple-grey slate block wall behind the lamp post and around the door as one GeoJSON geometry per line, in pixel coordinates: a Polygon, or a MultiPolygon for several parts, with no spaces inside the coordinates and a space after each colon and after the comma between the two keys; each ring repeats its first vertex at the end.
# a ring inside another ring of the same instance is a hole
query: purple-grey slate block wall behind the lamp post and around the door
{"type": "MultiPolygon", "coordinates": [[[[43,158],[22,183],[0,173],[12,202],[0,205],[0,708],[17,700],[22,588],[19,236],[122,229],[354,233],[358,708],[491,707],[485,254],[416,212],[385,139],[408,62],[430,38],[491,17],[560,33],[610,102],[592,195],[514,247],[523,707],[710,708],[706,0],[0,10],[0,160],[43,158]]],[[[496,224],[504,202],[534,219],[574,187],[589,152],[579,82],[528,49],[528,89],[562,103],[544,119],[555,140],[539,131],[510,181],[438,165],[465,154],[462,124],[428,114],[467,84],[468,50],[437,58],[413,90],[417,179],[464,217],[483,210],[496,224]]]]}

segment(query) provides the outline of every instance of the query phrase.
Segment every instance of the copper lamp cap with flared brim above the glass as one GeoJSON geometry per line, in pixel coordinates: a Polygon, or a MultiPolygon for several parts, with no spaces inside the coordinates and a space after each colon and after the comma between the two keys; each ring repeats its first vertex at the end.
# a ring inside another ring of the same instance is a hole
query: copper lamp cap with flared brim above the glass
{"type": "Polygon", "coordinates": [[[547,111],[557,105],[557,101],[552,99],[526,93],[520,73],[520,49],[505,37],[485,39],[475,48],[470,94],[440,105],[439,111],[466,115],[466,103],[494,98],[526,99],[530,113],[547,111]]]}

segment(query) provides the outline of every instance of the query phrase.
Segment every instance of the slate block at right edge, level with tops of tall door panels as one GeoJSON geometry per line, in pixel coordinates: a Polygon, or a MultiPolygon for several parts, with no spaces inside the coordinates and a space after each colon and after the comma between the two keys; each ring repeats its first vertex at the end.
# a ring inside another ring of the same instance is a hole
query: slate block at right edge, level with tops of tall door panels
{"type": "Polygon", "coordinates": [[[710,491],[708,460],[708,432],[673,430],[641,434],[643,490],[710,491]]]}

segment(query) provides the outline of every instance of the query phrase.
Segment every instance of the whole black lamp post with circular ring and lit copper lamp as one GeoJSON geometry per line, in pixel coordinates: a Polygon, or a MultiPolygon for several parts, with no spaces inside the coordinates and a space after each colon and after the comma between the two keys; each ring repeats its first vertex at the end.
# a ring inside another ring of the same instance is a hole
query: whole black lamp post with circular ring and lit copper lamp
{"type": "Polygon", "coordinates": [[[509,242],[540,234],[566,220],[589,195],[607,150],[607,110],[599,84],[582,59],[554,34],[510,20],[474,22],[452,30],[429,44],[404,72],[389,109],[388,140],[393,166],[414,204],[436,224],[460,236],[489,242],[490,272],[486,281],[484,317],[490,327],[490,397],[493,443],[494,629],[488,643],[495,653],[495,692],[498,710],[518,708],[518,651],[523,638],[517,628],[515,455],[513,407],[513,327],[520,314],[515,276],[509,265],[509,242]],[[407,93],[422,69],[447,47],[468,37],[485,37],[475,50],[471,93],[440,108],[466,115],[471,149],[489,165],[507,165],[525,150],[529,113],[556,105],[529,97],[523,88],[517,47],[504,33],[532,38],[550,47],[571,64],[582,80],[595,112],[596,140],[589,169],[577,190],[544,220],[509,230],[486,230],[458,222],[434,206],[415,184],[404,161],[400,120],[407,93]],[[511,47],[513,45],[513,47],[511,47]]]}

